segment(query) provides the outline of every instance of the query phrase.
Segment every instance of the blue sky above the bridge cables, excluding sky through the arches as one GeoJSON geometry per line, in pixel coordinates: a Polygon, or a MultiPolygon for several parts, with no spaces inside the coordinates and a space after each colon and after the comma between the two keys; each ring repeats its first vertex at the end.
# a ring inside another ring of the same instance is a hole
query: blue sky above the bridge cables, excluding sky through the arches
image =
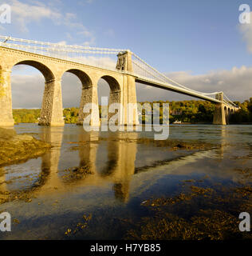
{"type": "MultiPolygon", "coordinates": [[[[252,25],[245,32],[241,29],[238,7],[247,3],[252,9],[252,1],[0,0],[2,3],[12,6],[12,23],[0,24],[3,35],[127,48],[157,70],[181,78],[178,82],[188,82],[188,76],[221,76],[225,71],[233,75],[234,69],[244,66],[242,76],[251,73],[252,25]]],[[[225,84],[225,79],[218,82],[225,84]]],[[[199,89],[199,85],[191,86],[199,89]]]]}

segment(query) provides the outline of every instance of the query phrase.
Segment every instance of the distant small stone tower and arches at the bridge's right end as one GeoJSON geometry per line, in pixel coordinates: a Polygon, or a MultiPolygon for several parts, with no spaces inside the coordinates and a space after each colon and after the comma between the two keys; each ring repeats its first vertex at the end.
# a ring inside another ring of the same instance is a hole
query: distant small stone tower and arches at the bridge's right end
{"type": "MultiPolygon", "coordinates": [[[[223,93],[216,95],[216,99],[223,101],[223,93]]],[[[214,125],[228,125],[230,115],[234,114],[238,110],[238,107],[230,106],[225,103],[216,103],[214,113],[214,125]]]]}

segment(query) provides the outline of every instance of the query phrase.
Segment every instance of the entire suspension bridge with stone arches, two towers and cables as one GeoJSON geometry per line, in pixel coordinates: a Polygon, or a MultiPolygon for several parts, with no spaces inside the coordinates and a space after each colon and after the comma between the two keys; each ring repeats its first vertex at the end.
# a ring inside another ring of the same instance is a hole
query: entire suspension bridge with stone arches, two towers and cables
{"type": "MultiPolygon", "coordinates": [[[[38,42],[22,38],[0,36],[0,69],[2,96],[0,98],[0,126],[13,125],[10,73],[13,66],[26,64],[40,70],[45,77],[45,91],[41,107],[41,125],[61,126],[61,77],[65,72],[76,74],[82,83],[79,123],[85,119],[86,103],[97,104],[97,82],[103,78],[110,86],[109,104],[123,104],[119,123],[137,125],[137,114],[128,110],[128,103],[136,103],[136,82],[155,86],[215,103],[214,124],[225,125],[230,114],[238,110],[222,91],[203,93],[192,90],[160,73],[138,55],[127,49],[110,49],[65,43],[38,42]]],[[[0,87],[1,89],[1,87],[0,87]]],[[[0,90],[1,93],[1,90],[0,90]]],[[[27,92],[29,94],[29,92],[27,92]]],[[[97,115],[91,112],[91,115],[97,115]]],[[[93,116],[93,125],[99,117],[93,116]]]]}

